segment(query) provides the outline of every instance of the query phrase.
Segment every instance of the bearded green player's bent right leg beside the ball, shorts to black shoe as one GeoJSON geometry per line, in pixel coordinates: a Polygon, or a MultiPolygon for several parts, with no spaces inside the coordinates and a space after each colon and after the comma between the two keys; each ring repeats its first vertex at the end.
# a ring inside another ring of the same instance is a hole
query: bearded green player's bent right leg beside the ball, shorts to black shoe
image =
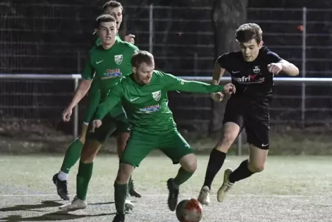
{"type": "Polygon", "coordinates": [[[167,181],[169,190],[167,203],[169,210],[174,211],[178,204],[179,187],[196,171],[197,159],[190,145],[177,130],[160,136],[158,147],[167,157],[172,159],[174,164],[180,163],[181,165],[178,174],[167,181]]]}

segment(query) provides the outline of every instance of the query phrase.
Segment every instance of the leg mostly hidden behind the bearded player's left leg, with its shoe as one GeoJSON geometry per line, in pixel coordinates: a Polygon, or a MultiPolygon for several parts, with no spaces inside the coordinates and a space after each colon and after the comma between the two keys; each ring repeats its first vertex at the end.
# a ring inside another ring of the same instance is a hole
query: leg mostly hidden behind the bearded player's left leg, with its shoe
{"type": "MultiPolygon", "coordinates": [[[[116,148],[118,152],[118,158],[121,158],[123,151],[125,150],[125,146],[127,140],[129,138],[130,132],[130,123],[127,119],[125,112],[119,114],[116,118],[116,148]]],[[[128,183],[128,194],[130,196],[135,196],[137,198],[141,198],[141,194],[137,192],[134,186],[134,181],[132,176],[130,176],[129,183],[128,183]]]]}

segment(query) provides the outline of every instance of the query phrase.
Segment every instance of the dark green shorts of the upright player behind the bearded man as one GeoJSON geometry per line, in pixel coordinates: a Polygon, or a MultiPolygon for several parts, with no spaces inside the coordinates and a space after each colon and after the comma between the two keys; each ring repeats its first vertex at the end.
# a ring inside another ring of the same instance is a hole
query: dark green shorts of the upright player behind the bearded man
{"type": "Polygon", "coordinates": [[[130,132],[130,123],[127,119],[127,115],[121,110],[111,110],[103,121],[100,128],[96,128],[94,132],[90,132],[90,128],[87,132],[86,139],[99,141],[104,143],[108,137],[116,130],[116,132],[130,132]]]}

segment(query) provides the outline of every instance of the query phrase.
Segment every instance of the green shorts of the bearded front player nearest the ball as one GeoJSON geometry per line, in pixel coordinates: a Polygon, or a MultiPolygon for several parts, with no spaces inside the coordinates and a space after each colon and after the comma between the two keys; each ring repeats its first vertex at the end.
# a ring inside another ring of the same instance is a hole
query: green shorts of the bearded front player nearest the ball
{"type": "Polygon", "coordinates": [[[120,163],[138,167],[149,152],[156,148],[166,154],[174,164],[179,163],[185,155],[193,153],[190,145],[176,129],[160,135],[145,134],[133,130],[120,163]]]}

